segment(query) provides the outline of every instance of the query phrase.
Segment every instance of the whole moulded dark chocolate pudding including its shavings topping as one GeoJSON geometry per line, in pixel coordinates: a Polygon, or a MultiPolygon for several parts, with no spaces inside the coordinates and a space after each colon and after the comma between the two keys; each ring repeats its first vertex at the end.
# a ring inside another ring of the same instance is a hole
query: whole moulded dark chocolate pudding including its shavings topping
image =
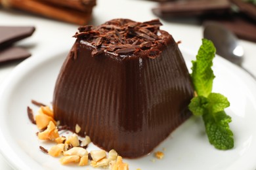
{"type": "Polygon", "coordinates": [[[60,124],[107,151],[144,156],[190,116],[190,75],[160,21],[79,27],[53,98],[60,124]]]}

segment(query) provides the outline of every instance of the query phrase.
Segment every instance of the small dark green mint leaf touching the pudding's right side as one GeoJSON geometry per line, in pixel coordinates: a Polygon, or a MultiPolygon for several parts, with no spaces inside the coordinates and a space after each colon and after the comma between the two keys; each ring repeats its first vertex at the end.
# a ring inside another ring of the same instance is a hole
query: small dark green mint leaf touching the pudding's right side
{"type": "Polygon", "coordinates": [[[205,105],[207,104],[207,98],[203,96],[194,97],[190,104],[188,105],[188,109],[195,116],[202,116],[207,110],[205,110],[205,105]]]}

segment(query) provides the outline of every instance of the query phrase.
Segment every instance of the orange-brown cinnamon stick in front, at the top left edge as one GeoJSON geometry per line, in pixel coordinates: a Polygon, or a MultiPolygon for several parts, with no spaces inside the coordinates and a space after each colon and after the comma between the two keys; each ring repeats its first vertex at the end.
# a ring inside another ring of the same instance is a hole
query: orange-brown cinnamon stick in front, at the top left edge
{"type": "Polygon", "coordinates": [[[91,19],[92,9],[88,12],[81,12],[64,7],[54,7],[53,5],[35,0],[0,0],[0,4],[3,7],[25,10],[33,14],[79,25],[87,24],[91,19]]]}

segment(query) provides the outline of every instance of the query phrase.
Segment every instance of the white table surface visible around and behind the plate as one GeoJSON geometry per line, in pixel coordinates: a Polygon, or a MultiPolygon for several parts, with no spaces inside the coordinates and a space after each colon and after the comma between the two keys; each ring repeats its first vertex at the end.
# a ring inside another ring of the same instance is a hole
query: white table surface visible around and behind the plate
{"type": "MultiPolygon", "coordinates": [[[[93,11],[93,20],[91,24],[99,25],[103,22],[114,18],[129,18],[131,20],[144,22],[156,18],[151,10],[156,3],[143,0],[98,0],[97,6],[93,11]],[[117,8],[120,7],[120,8],[117,8]],[[123,8],[124,7],[124,8],[123,8]]],[[[171,33],[176,41],[181,41],[181,48],[190,50],[194,53],[198,50],[202,39],[202,26],[195,24],[179,24],[167,23],[163,20],[164,29],[171,33]]],[[[0,25],[34,25],[36,28],[32,37],[20,41],[16,46],[23,46],[32,52],[32,57],[37,57],[37,54],[49,53],[49,49],[54,46],[61,46],[62,44],[74,43],[75,31],[78,25],[66,24],[39,16],[32,16],[23,12],[13,10],[0,10],[0,25]]],[[[256,43],[249,41],[240,41],[240,44],[245,50],[245,59],[243,67],[256,75],[256,43]]],[[[69,49],[64,49],[68,51],[69,49]]],[[[10,63],[7,65],[0,65],[0,88],[1,83],[11,73],[12,69],[18,63],[10,63]]],[[[1,102],[1,99],[0,99],[1,102]]],[[[0,169],[12,169],[0,155],[0,169]]]]}

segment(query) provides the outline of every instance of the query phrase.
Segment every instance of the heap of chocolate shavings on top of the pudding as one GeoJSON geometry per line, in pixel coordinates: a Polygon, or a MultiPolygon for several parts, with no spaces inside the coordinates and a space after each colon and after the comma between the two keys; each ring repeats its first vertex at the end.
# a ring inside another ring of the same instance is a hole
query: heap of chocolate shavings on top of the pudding
{"type": "Polygon", "coordinates": [[[144,54],[148,54],[149,58],[156,58],[160,54],[157,49],[165,45],[166,39],[170,37],[168,33],[160,30],[160,25],[162,25],[160,20],[133,22],[116,19],[98,27],[91,25],[79,27],[79,32],[75,33],[74,37],[78,39],[77,42],[86,41],[94,47],[91,53],[93,57],[104,52],[137,55],[148,50],[144,54]]]}

